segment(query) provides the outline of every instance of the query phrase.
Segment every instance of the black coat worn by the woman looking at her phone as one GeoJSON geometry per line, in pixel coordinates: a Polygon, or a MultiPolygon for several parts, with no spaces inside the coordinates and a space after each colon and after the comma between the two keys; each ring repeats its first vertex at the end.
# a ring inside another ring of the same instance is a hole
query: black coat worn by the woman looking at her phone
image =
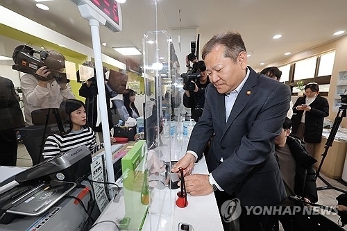
{"type": "MultiPolygon", "coordinates": [[[[291,117],[293,121],[292,133],[296,134],[298,126],[301,123],[301,117],[303,117],[303,110],[296,110],[296,106],[305,104],[306,96],[299,97],[293,106],[294,115],[291,117]]],[[[320,94],[310,104],[310,112],[305,113],[305,132],[304,140],[307,143],[320,143],[323,133],[323,121],[324,117],[329,115],[329,103],[328,100],[322,97],[320,94]]]]}

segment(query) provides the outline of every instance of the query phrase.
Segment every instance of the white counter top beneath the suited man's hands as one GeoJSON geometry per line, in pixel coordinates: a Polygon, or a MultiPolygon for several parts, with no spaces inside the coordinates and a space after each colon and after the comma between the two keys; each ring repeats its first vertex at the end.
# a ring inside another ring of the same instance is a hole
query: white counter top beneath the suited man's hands
{"type": "MultiPolygon", "coordinates": [[[[179,160],[185,154],[185,148],[187,147],[187,142],[189,139],[183,137],[177,141],[171,139],[171,161],[179,160]],[[176,148],[176,151],[174,149],[176,148]],[[177,148],[180,148],[178,151],[177,148]]],[[[167,144],[167,140],[162,139],[162,145],[167,144]]],[[[167,147],[169,148],[169,147],[167,147]]],[[[165,148],[164,148],[165,150],[165,148]]],[[[166,153],[166,151],[163,151],[166,153]]],[[[208,174],[208,168],[205,162],[205,157],[202,157],[198,163],[195,164],[193,173],[203,173],[208,174]]],[[[214,194],[208,196],[190,196],[188,194],[187,201],[188,205],[185,208],[180,208],[175,204],[176,194],[180,189],[164,189],[171,198],[165,198],[165,196],[153,196],[151,203],[159,203],[160,200],[173,201],[172,213],[169,223],[168,219],[161,219],[161,214],[147,213],[146,219],[144,220],[144,225],[142,230],[154,231],[154,230],[178,230],[178,223],[188,223],[192,225],[194,230],[223,230],[223,225],[221,223],[221,218],[219,216],[219,209],[217,207],[216,198],[214,194]],[[153,228],[153,220],[158,223],[161,227],[153,228]],[[152,226],[152,227],[151,227],[152,226]]],[[[154,206],[153,206],[154,207],[154,206]]],[[[170,205],[167,205],[170,207],[170,205]]],[[[151,209],[151,205],[150,208],[151,209]]],[[[113,200],[105,207],[99,218],[94,223],[92,231],[98,230],[117,230],[115,223],[119,224],[120,221],[125,216],[125,204],[124,204],[124,189],[121,189],[120,193],[115,196],[113,200]],[[113,223],[115,222],[115,223],[113,223]]]]}

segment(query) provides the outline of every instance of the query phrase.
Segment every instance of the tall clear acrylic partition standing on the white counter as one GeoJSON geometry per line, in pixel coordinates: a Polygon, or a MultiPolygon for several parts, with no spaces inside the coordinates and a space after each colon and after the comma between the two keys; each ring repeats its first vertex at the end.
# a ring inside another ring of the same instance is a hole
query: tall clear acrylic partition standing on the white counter
{"type": "Polygon", "coordinates": [[[150,31],[143,38],[144,126],[149,167],[149,214],[144,230],[172,230],[175,197],[171,190],[171,142],[162,142],[162,121],[170,122],[171,42],[166,31],[150,31]]]}

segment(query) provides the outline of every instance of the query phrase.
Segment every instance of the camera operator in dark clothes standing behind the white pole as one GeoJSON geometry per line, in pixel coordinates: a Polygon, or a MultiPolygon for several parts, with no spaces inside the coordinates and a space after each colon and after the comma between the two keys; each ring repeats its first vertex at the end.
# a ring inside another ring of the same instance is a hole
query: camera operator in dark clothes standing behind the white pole
{"type": "MultiPolygon", "coordinates": [[[[96,69],[95,64],[92,61],[87,61],[83,63],[83,66],[92,67],[94,69],[94,76],[89,78],[83,83],[79,89],[79,94],[85,97],[85,110],[87,111],[87,124],[94,130],[98,132],[99,137],[102,135],[101,123],[98,121],[98,85],[96,83],[96,69]]],[[[113,127],[112,122],[112,112],[110,109],[110,98],[117,96],[116,92],[113,92],[110,87],[108,87],[108,80],[105,78],[105,73],[108,71],[107,67],[103,67],[103,78],[105,80],[105,96],[106,105],[108,107],[108,125],[109,129],[113,127]]],[[[79,73],[77,74],[79,77],[79,73]]]]}

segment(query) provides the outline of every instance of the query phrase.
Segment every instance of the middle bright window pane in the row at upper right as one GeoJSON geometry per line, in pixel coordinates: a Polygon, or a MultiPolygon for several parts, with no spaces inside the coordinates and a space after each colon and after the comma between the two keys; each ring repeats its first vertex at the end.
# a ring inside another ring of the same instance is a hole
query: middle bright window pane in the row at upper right
{"type": "Polygon", "coordinates": [[[294,71],[294,80],[314,78],[314,71],[316,69],[317,57],[307,58],[296,62],[294,71]]]}

